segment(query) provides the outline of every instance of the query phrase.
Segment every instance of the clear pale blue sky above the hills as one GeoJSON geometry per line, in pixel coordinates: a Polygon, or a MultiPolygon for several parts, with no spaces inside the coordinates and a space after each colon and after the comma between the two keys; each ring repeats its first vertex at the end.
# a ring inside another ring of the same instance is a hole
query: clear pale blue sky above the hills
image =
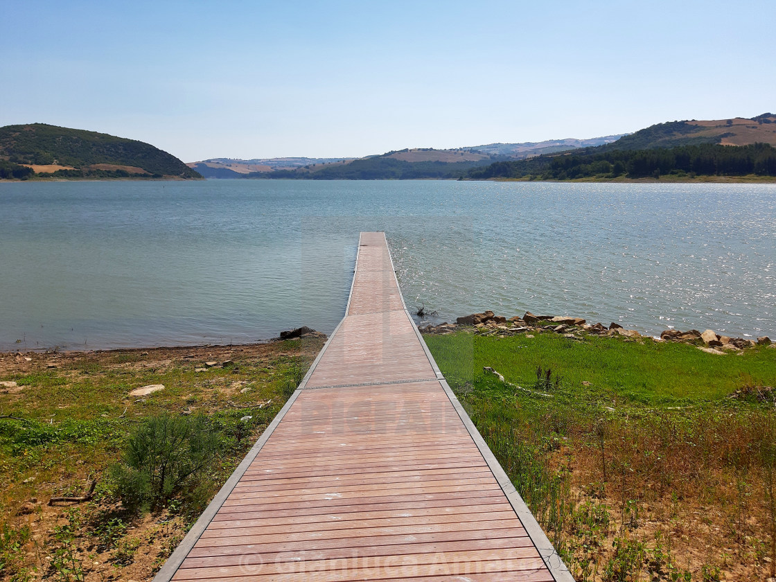
{"type": "Polygon", "coordinates": [[[750,117],[776,111],[772,13],[772,0],[0,0],[0,126],[199,161],[750,117]]]}

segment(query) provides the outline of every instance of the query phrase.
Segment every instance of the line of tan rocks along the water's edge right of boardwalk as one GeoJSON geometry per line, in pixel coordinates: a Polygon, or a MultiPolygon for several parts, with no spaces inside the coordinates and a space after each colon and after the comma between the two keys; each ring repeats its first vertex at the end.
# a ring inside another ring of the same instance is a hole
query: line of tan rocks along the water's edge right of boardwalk
{"type": "MultiPolygon", "coordinates": [[[[456,319],[455,324],[445,321],[438,325],[420,325],[420,331],[424,334],[450,334],[453,331],[466,330],[481,335],[514,336],[525,334],[532,338],[533,334],[555,333],[563,334],[566,338],[581,339],[586,335],[598,335],[607,337],[622,337],[629,341],[643,341],[643,336],[636,330],[625,329],[622,325],[611,323],[588,324],[582,317],[570,317],[566,315],[534,315],[530,311],[515,317],[496,315],[493,311],[485,311],[482,314],[471,314],[456,319]]],[[[742,352],[746,348],[756,345],[771,345],[771,339],[767,336],[757,338],[757,341],[746,338],[729,338],[720,335],[713,330],[706,331],[689,330],[679,331],[668,329],[660,334],[660,338],[649,337],[653,341],[673,341],[695,345],[704,352],[725,355],[728,352],[742,352]]]]}

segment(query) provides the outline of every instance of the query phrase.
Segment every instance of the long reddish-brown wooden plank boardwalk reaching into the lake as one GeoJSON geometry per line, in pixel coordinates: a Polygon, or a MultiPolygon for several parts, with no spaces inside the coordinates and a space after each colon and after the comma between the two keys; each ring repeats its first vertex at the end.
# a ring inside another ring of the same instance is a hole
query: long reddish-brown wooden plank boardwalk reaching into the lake
{"type": "Polygon", "coordinates": [[[154,582],[573,580],[362,233],[345,318],[154,582]]]}

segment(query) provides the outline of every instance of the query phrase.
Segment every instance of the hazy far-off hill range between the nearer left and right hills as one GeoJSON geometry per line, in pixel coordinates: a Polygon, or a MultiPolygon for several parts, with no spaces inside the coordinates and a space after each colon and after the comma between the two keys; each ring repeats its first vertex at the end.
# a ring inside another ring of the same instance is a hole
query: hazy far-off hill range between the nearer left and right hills
{"type": "Polygon", "coordinates": [[[212,158],[189,162],[206,178],[303,178],[315,180],[403,180],[459,178],[494,161],[518,160],[550,151],[608,144],[621,135],[590,140],[547,140],[521,144],[487,144],[437,150],[414,147],[366,158],[212,158]]]}

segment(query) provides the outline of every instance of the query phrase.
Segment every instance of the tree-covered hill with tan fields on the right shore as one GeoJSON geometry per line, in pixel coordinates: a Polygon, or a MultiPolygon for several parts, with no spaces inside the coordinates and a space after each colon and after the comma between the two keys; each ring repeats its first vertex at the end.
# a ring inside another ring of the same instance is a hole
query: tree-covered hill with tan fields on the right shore
{"type": "Polygon", "coordinates": [[[473,179],[608,180],[616,178],[776,176],[776,116],[659,123],[611,144],[469,170],[473,179]]]}

